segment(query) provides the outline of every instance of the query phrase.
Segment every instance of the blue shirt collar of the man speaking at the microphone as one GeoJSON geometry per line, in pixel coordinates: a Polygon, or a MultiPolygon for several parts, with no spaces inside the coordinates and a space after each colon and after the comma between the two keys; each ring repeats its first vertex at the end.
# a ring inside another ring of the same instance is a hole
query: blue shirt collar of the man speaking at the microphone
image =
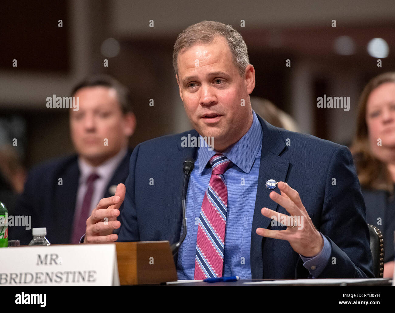
{"type": "MultiPolygon", "coordinates": [[[[225,157],[247,174],[250,172],[256,155],[262,146],[263,135],[261,123],[254,111],[252,111],[252,115],[252,125],[248,132],[239,141],[222,152],[225,157]]],[[[202,142],[203,137],[200,136],[200,140],[202,142]]],[[[205,147],[200,145],[198,148],[198,167],[200,174],[215,154],[216,152],[209,150],[207,145],[205,147]]]]}

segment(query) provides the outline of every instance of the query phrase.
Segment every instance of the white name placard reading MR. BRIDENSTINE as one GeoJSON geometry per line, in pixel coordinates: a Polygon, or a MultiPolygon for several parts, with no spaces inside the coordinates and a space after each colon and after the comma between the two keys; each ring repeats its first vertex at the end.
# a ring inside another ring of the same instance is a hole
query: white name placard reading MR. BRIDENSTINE
{"type": "Polygon", "coordinates": [[[119,286],[115,244],[0,249],[0,286],[119,286]]]}

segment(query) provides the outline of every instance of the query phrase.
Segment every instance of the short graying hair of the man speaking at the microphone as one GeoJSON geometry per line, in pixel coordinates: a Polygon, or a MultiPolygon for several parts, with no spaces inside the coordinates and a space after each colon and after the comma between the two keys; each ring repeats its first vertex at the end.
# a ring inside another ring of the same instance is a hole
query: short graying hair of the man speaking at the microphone
{"type": "Polygon", "coordinates": [[[247,45],[240,33],[232,26],[214,21],[203,21],[184,29],[177,37],[173,48],[173,68],[177,71],[177,57],[182,49],[192,47],[198,43],[212,43],[218,36],[222,36],[228,41],[230,51],[233,55],[233,62],[243,76],[245,68],[250,64],[247,53],[247,45]]]}

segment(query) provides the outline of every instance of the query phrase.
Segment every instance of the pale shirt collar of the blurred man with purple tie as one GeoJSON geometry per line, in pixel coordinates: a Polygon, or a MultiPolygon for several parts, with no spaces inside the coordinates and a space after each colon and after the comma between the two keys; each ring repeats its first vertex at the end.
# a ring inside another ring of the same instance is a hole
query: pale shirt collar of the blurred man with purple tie
{"type": "Polygon", "coordinates": [[[81,173],[79,182],[85,183],[89,175],[92,173],[98,174],[100,179],[110,179],[127,152],[128,148],[125,147],[121,149],[115,156],[109,158],[99,166],[92,166],[79,157],[78,167],[81,173]]]}

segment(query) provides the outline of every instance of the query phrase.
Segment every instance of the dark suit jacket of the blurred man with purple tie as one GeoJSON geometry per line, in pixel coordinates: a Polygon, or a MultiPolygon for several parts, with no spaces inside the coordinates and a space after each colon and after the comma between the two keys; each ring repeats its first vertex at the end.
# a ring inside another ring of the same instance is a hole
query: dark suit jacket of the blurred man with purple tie
{"type": "MultiPolygon", "coordinates": [[[[110,186],[125,182],[131,154],[130,149],[110,179],[103,198],[113,196],[109,192],[110,186]]],[[[51,244],[70,243],[78,183],[77,155],[36,166],[28,175],[15,215],[31,215],[32,228],[46,227],[51,244]],[[59,178],[62,178],[62,185],[58,185],[59,178]]],[[[27,245],[33,238],[32,230],[25,227],[13,226],[8,230],[9,239],[19,239],[21,245],[27,245]]]]}

